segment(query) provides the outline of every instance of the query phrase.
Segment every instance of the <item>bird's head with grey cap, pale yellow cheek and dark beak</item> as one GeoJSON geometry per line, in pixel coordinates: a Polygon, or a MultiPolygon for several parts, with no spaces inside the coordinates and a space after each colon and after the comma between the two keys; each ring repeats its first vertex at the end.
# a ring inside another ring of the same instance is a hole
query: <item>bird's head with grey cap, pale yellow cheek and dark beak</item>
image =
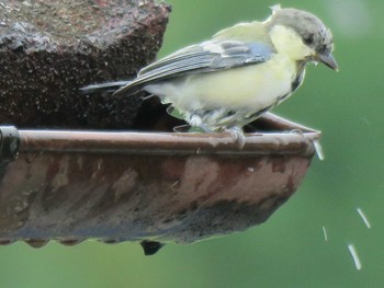
{"type": "Polygon", "coordinates": [[[332,56],[331,32],[315,15],[296,9],[272,7],[272,15],[264,22],[278,51],[304,61],[320,61],[334,70],[338,65],[332,56]]]}

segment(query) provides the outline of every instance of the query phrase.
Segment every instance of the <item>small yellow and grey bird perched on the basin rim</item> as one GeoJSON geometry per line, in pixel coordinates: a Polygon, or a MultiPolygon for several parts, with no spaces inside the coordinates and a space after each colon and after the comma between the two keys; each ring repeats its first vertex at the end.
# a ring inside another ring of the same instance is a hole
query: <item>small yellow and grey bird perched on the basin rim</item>
{"type": "Polygon", "coordinates": [[[330,31],[315,15],[272,7],[264,22],[240,23],[143,68],[132,81],[82,88],[84,93],[145,90],[171,104],[192,127],[229,131],[244,145],[241,127],[287,99],[308,62],[334,70],[330,31]]]}

